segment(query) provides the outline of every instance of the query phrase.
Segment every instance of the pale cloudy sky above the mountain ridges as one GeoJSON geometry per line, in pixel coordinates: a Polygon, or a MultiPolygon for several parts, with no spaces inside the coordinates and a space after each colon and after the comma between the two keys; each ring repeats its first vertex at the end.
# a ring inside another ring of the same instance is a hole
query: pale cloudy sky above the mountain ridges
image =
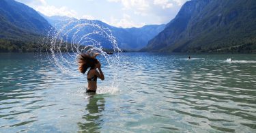
{"type": "Polygon", "coordinates": [[[101,20],[115,27],[167,24],[188,0],[16,0],[46,16],[101,20]]]}

